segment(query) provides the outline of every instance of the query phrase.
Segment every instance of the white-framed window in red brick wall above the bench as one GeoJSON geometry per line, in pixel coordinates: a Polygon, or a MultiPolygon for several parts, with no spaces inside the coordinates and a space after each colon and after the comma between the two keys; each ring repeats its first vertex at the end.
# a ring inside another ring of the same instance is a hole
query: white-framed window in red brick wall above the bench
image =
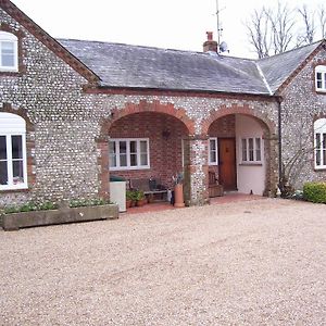
{"type": "Polygon", "coordinates": [[[150,168],[148,138],[121,138],[109,141],[111,171],[150,168]]]}

